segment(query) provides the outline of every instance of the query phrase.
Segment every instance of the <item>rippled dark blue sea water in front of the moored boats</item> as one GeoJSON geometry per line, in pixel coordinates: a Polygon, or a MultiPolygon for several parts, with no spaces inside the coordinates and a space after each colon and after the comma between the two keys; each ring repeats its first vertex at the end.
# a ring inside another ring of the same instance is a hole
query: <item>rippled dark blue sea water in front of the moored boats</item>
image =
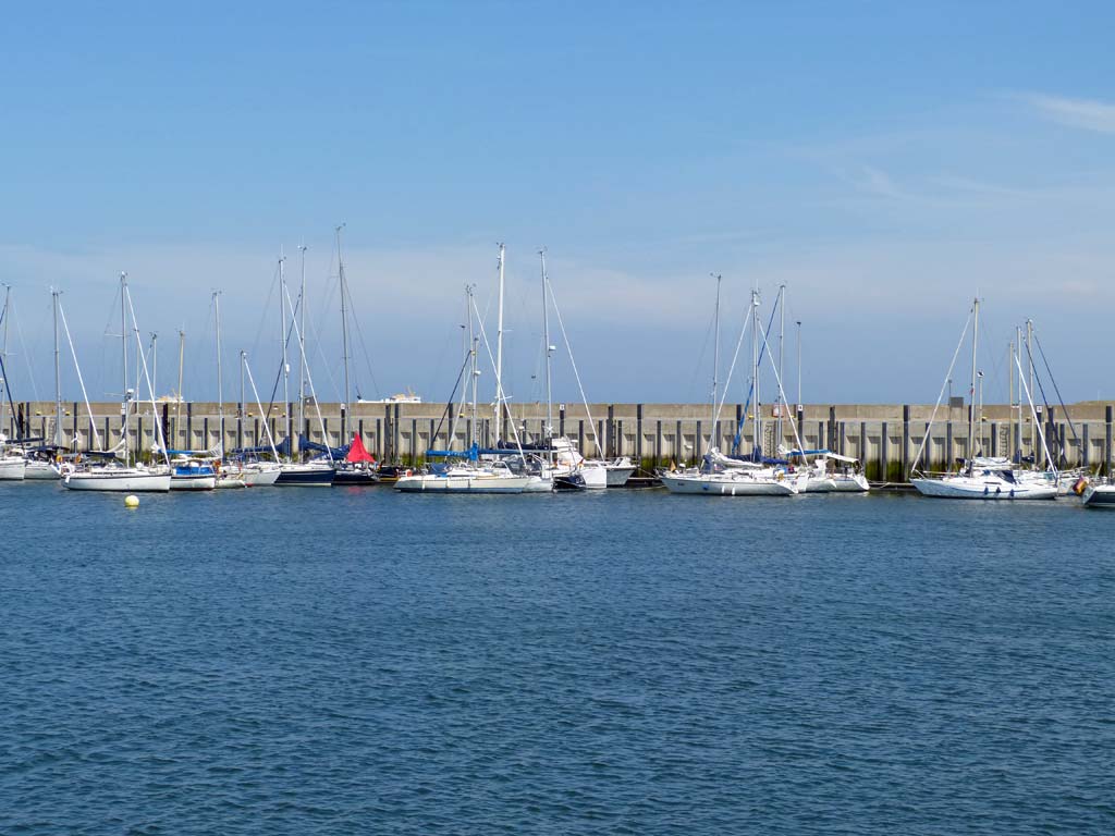
{"type": "Polygon", "coordinates": [[[0,833],[1115,832],[1115,514],[0,487],[0,833]]]}

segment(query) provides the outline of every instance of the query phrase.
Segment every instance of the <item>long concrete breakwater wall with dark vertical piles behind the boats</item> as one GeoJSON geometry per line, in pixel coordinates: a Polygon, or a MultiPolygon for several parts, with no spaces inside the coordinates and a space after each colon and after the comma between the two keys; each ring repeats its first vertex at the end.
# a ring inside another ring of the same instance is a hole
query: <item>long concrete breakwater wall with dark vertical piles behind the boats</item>
{"type": "MultiPolygon", "coordinates": [[[[57,438],[74,451],[117,446],[122,438],[119,404],[94,404],[91,418],[84,404],[62,405],[60,432],[56,436],[56,409],[52,401],[20,402],[16,414],[7,410],[6,432],[10,438],[57,438]]],[[[225,405],[223,417],[213,402],[159,402],[138,405],[128,427],[128,445],[140,457],[149,457],[156,444],[156,422],[168,446],[175,449],[213,449],[223,440],[225,449],[263,447],[266,430],[277,441],[297,437],[297,404],[243,408],[225,405]]],[[[975,422],[973,438],[968,437],[969,407],[938,409],[927,439],[933,407],[927,405],[806,405],[779,416],[773,405],[762,407],[762,436],[765,451],[779,445],[796,446],[794,426],[806,448],[828,448],[864,463],[869,478],[876,482],[902,482],[924,441],[922,469],[946,470],[949,463],[972,450],[988,456],[1034,456],[1039,464],[1049,455],[1061,466],[1112,469],[1112,404],[1075,404],[1039,412],[1035,425],[1028,410],[1018,421],[1017,409],[1005,405],[987,406],[975,422]],[[791,420],[791,414],[794,420],[791,420]],[[1039,428],[1040,427],[1040,430],[1039,428]],[[1046,444],[1041,444],[1041,435],[1046,444]]],[[[733,449],[736,431],[745,418],[744,406],[725,405],[719,420],[712,421],[707,405],[698,404],[593,404],[560,405],[553,411],[554,429],[576,439],[586,456],[630,456],[644,468],[670,463],[694,463],[711,441],[723,450],[733,449]]],[[[546,421],[544,404],[517,404],[504,417],[502,437],[513,440],[508,424],[523,436],[537,437],[546,421]]],[[[473,421],[445,404],[359,404],[345,410],[338,404],[312,405],[306,409],[301,434],[317,444],[337,447],[352,432],[360,434],[365,446],[384,461],[417,465],[430,449],[460,449],[474,437],[473,421]],[[318,419],[320,409],[321,419],[318,419]]],[[[495,445],[495,420],[491,408],[477,417],[475,437],[483,446],[495,445]]],[[[741,450],[756,441],[753,424],[744,421],[738,438],[741,450]]]]}

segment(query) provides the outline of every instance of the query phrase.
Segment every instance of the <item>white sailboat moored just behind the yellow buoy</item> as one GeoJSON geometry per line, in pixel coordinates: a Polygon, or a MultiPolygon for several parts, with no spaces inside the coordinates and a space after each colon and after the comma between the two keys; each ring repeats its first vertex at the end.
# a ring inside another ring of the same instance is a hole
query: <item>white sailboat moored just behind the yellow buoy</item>
{"type": "MultiPolygon", "coordinates": [[[[57,297],[56,297],[57,302],[57,297]]],[[[120,444],[117,449],[124,453],[124,464],[120,465],[115,458],[116,450],[100,454],[101,460],[112,456],[107,464],[79,467],[74,464],[64,465],[62,485],[70,490],[118,490],[118,492],[166,492],[171,489],[169,460],[166,458],[166,443],[163,439],[162,424],[155,421],[155,435],[157,446],[163,450],[166,466],[145,467],[136,463],[132,464],[130,445],[128,444],[129,419],[132,407],[135,402],[135,392],[128,388],[128,331],[135,334],[136,351],[138,362],[143,366],[143,376],[147,382],[151,393],[152,410],[155,409],[155,390],[151,385],[151,377],[147,375],[147,360],[144,358],[143,344],[139,341],[139,328],[136,324],[135,309],[132,305],[132,295],[128,292],[127,273],[120,273],[120,337],[123,348],[124,368],[124,401],[122,404],[123,427],[120,432],[120,444]],[[130,315],[129,315],[130,314],[130,315]],[[128,323],[130,322],[130,329],[128,323]]],[[[83,387],[84,388],[84,387],[83,387]]]]}

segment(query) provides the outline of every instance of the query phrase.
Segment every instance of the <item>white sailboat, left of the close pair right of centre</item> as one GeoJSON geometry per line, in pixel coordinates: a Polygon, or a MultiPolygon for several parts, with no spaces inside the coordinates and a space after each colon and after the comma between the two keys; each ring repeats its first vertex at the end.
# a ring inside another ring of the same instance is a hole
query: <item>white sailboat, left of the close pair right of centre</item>
{"type": "MultiPolygon", "coordinates": [[[[759,455],[758,439],[762,438],[762,415],[759,409],[759,363],[763,353],[759,349],[759,334],[762,325],[758,320],[759,295],[757,290],[752,291],[750,314],[745,320],[744,330],[740,331],[739,342],[736,346],[736,354],[739,353],[739,346],[743,343],[744,333],[747,325],[752,327],[752,396],[755,399],[755,439],[756,448],[752,458],[737,458],[725,456],[716,446],[714,439],[709,439],[709,447],[699,467],[678,470],[659,470],[659,479],[671,494],[694,494],[702,496],[793,496],[805,490],[808,482],[808,474],[791,473],[780,463],[764,460],[759,455]]],[[[716,338],[712,361],[712,424],[715,427],[719,418],[719,410],[723,399],[718,399],[719,390],[719,366],[720,366],[720,276],[716,276],[716,338]]],[[[763,333],[763,349],[766,348],[766,334],[763,333]]],[[[735,366],[735,361],[733,361],[735,366]]],[[[777,369],[775,369],[777,376],[777,369]]],[[[725,383],[727,393],[728,383],[731,381],[731,372],[728,373],[728,381],[725,383]]],[[[778,388],[782,389],[782,378],[778,376],[778,388]]],[[[746,412],[746,410],[745,410],[746,412]]],[[[746,419],[746,415],[744,416],[746,419]]],[[[795,426],[794,432],[797,429],[795,426]]]]}

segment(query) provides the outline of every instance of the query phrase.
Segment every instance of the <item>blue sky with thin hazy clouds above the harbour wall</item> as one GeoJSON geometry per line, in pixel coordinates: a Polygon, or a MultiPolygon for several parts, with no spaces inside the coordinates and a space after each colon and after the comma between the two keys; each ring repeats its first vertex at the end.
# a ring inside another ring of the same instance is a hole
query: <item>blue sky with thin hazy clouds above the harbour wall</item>
{"type": "MultiPolygon", "coordinates": [[[[707,400],[712,274],[721,381],[752,289],[769,317],[784,284],[789,400],[799,331],[806,402],[933,402],[977,295],[988,401],[1027,318],[1066,400],[1115,399],[1109,3],[56,2],[4,22],[17,400],[52,398],[51,288],[90,398],[118,398],[122,271],[159,393],[184,331],[183,393],[215,398],[220,290],[225,397],[241,351],[266,397],[300,245],[314,388],[340,399],[340,224],[365,398],[448,398],[466,284],[494,342],[505,242],[513,401],[544,397],[542,247],[594,402],[707,400]]],[[[61,377],[79,399],[65,354],[61,377]]]]}

